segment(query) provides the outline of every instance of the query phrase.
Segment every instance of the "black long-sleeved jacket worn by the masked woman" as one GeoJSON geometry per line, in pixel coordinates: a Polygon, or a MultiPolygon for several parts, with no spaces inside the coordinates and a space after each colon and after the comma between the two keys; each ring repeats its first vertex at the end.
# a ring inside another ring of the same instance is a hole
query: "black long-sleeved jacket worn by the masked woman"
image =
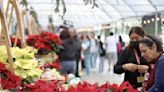
{"type": "MultiPolygon", "coordinates": [[[[138,51],[138,55],[141,56],[139,51],[138,51]]],[[[135,71],[135,72],[124,71],[124,69],[122,68],[122,65],[126,63],[137,64],[137,60],[135,58],[133,50],[130,50],[128,47],[126,47],[119,55],[118,61],[116,65],[114,66],[114,73],[117,73],[117,74],[125,73],[124,81],[129,81],[129,83],[134,88],[141,87],[142,84],[137,83],[137,76],[140,76],[141,74],[138,71],[135,71]]],[[[140,63],[141,65],[148,65],[146,60],[142,57],[140,57],[140,63]]]]}

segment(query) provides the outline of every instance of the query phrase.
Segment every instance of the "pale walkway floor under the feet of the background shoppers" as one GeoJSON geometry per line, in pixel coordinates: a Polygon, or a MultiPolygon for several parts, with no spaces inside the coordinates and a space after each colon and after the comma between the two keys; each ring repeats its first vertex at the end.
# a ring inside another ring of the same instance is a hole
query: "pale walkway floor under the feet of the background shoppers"
{"type": "Polygon", "coordinates": [[[123,81],[124,74],[115,74],[113,73],[113,70],[108,72],[108,62],[105,60],[104,62],[104,72],[99,73],[98,72],[98,63],[99,59],[97,59],[97,67],[96,69],[92,69],[92,73],[90,76],[86,76],[84,73],[81,73],[83,76],[81,77],[81,80],[89,82],[91,84],[98,83],[99,85],[106,83],[107,81],[110,84],[121,84],[123,81]]]}

